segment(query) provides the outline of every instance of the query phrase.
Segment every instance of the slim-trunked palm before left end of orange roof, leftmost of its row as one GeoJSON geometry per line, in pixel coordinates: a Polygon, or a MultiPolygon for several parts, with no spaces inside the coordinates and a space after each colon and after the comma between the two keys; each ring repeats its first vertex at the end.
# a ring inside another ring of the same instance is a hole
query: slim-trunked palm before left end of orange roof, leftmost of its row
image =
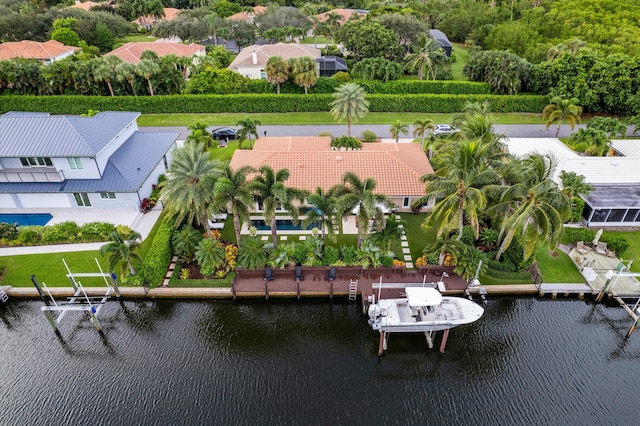
{"type": "Polygon", "coordinates": [[[249,218],[249,207],[253,202],[251,191],[247,186],[247,175],[254,171],[255,169],[251,166],[233,170],[227,164],[213,186],[213,205],[219,210],[231,210],[238,248],[240,248],[242,221],[249,218]]]}

